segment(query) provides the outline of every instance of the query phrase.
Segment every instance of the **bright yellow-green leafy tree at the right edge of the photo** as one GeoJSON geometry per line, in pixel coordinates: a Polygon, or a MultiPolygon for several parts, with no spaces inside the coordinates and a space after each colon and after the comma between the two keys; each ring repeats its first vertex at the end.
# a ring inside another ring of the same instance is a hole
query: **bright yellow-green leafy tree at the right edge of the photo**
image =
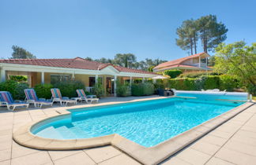
{"type": "Polygon", "coordinates": [[[221,43],[216,47],[214,68],[237,76],[251,94],[256,94],[256,42],[252,46],[243,41],[221,43]]]}

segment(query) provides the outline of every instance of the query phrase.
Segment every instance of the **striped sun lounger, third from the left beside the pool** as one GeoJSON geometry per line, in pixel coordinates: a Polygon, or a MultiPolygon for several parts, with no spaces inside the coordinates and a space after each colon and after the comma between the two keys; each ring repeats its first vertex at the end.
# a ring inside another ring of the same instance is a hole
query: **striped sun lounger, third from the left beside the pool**
{"type": "Polygon", "coordinates": [[[77,104],[76,100],[70,99],[69,97],[62,97],[62,94],[58,88],[52,88],[51,94],[52,94],[52,97],[51,97],[52,102],[59,102],[60,105],[62,105],[63,103],[65,103],[65,105],[67,105],[68,103],[77,104]]]}

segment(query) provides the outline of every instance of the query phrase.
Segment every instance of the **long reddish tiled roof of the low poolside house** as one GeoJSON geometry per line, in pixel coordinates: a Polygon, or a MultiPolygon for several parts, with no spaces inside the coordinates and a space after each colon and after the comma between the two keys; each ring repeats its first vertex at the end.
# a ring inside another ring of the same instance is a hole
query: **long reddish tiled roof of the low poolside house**
{"type": "Polygon", "coordinates": [[[7,64],[28,64],[46,67],[58,67],[58,68],[77,68],[88,70],[102,70],[108,66],[114,67],[119,72],[132,72],[141,74],[156,75],[153,72],[146,72],[139,69],[124,68],[113,64],[104,64],[96,61],[88,61],[81,57],[76,58],[64,58],[64,59],[3,59],[0,63],[7,64]]]}

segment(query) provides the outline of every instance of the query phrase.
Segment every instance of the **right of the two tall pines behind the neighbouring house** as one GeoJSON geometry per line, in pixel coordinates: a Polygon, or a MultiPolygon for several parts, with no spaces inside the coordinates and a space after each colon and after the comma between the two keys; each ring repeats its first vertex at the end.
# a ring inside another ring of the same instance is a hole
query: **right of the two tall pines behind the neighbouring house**
{"type": "Polygon", "coordinates": [[[217,22],[216,16],[201,16],[196,22],[205,53],[214,50],[227,38],[228,28],[223,23],[217,22]]]}

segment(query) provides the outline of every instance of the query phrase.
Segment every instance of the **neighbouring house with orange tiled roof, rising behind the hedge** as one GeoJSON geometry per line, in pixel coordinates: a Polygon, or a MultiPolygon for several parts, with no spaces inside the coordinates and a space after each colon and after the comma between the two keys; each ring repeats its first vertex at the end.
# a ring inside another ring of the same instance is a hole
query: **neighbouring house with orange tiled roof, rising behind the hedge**
{"type": "Polygon", "coordinates": [[[212,69],[207,66],[208,57],[210,57],[208,53],[197,53],[189,57],[159,64],[153,68],[153,72],[164,72],[172,69],[179,69],[183,72],[210,71],[212,69]]]}

